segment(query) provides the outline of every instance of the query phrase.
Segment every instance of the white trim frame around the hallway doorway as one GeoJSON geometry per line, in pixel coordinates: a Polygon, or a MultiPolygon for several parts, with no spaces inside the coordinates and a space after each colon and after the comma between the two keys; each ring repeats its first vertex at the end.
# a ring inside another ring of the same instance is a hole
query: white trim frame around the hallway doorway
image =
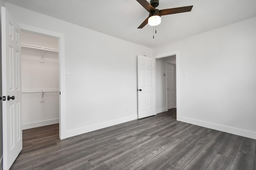
{"type": "MultiPolygon", "coordinates": [[[[168,53],[156,55],[154,58],[160,59],[172,55],[176,55],[176,119],[180,121],[180,51],[170,51],[168,53]]],[[[168,108],[167,99],[166,107],[168,108]]]]}

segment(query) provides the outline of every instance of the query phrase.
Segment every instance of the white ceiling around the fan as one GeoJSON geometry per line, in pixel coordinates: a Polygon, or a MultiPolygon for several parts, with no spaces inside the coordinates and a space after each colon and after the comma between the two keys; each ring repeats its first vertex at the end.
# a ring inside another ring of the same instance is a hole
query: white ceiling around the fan
{"type": "Polygon", "coordinates": [[[159,0],[160,10],[193,8],[191,12],[162,16],[153,39],[152,26],[137,29],[148,12],[136,0],[5,1],[150,48],[256,16],[256,0],[159,0]]]}

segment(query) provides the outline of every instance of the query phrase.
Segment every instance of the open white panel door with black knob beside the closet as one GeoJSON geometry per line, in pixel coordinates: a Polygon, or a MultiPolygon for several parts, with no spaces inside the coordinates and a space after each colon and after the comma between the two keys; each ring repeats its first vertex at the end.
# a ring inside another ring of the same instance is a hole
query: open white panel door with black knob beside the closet
{"type": "Polygon", "coordinates": [[[22,150],[20,28],[2,9],[3,168],[22,150]],[[5,98],[4,98],[5,96],[5,98]]]}

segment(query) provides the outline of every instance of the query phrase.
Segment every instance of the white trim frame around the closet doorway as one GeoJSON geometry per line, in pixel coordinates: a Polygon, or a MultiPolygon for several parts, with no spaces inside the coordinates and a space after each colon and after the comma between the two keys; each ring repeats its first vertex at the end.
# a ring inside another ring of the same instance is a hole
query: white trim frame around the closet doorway
{"type": "Polygon", "coordinates": [[[60,139],[66,138],[66,85],[65,85],[65,36],[62,33],[56,33],[53,31],[41,29],[38,27],[32,27],[18,23],[21,31],[34,33],[38,35],[44,35],[48,37],[57,38],[59,40],[59,122],[60,122],[60,139]]]}

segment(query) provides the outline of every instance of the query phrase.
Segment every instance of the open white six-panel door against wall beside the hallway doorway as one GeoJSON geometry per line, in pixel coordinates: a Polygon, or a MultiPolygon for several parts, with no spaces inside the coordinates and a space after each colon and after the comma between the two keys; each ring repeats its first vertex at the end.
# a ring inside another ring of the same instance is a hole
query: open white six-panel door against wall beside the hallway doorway
{"type": "Polygon", "coordinates": [[[156,115],[156,59],[138,55],[138,119],[156,115]]]}

